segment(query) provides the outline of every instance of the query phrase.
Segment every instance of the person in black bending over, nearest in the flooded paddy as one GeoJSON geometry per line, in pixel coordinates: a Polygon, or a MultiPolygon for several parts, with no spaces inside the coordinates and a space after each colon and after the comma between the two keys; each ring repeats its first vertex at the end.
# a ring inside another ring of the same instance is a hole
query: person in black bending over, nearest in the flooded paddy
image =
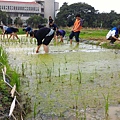
{"type": "Polygon", "coordinates": [[[37,50],[39,52],[41,45],[43,44],[44,51],[49,52],[48,45],[54,37],[54,30],[48,27],[41,27],[39,30],[34,30],[30,32],[30,36],[37,39],[37,50]]]}

